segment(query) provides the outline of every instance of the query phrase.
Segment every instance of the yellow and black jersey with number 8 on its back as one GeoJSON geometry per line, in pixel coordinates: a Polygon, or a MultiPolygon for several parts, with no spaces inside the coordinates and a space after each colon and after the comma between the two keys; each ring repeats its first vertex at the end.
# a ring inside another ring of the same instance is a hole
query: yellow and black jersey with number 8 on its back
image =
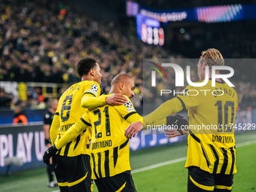
{"type": "MultiPolygon", "coordinates": [[[[81,107],[81,100],[86,94],[99,96],[99,84],[96,81],[81,81],[77,84],[73,84],[62,94],[55,113],[55,115],[58,115],[59,117],[59,126],[51,126],[50,128],[58,129],[58,136],[54,142],[57,142],[66,133],[66,131],[82,117],[86,108],[81,107]]],[[[74,157],[80,154],[90,154],[89,136],[90,130],[84,131],[72,142],[63,146],[61,150],[59,150],[58,154],[60,156],[67,157],[74,157]]]]}

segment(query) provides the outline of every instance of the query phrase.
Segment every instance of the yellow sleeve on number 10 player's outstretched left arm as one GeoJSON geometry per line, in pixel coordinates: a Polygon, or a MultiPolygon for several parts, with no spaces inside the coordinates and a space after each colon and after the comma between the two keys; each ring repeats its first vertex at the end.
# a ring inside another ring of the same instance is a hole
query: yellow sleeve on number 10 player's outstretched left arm
{"type": "Polygon", "coordinates": [[[154,124],[157,122],[157,120],[161,120],[171,114],[182,111],[182,109],[184,109],[184,106],[182,105],[181,101],[175,97],[164,102],[156,110],[143,117],[143,124],[144,126],[154,124]]]}

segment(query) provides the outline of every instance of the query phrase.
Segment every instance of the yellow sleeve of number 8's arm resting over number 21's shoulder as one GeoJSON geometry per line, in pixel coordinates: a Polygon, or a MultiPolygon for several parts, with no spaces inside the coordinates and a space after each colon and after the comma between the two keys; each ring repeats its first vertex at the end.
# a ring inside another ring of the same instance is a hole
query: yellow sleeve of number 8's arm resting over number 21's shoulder
{"type": "Polygon", "coordinates": [[[97,108],[106,104],[105,97],[105,95],[96,97],[93,94],[84,94],[81,101],[81,106],[83,108],[97,108]]]}

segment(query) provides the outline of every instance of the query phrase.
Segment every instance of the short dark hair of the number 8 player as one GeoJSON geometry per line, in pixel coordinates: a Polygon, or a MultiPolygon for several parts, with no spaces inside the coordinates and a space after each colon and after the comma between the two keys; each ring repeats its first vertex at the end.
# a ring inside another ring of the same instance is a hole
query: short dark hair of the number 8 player
{"type": "Polygon", "coordinates": [[[93,69],[94,67],[96,67],[96,60],[90,57],[81,59],[78,62],[78,66],[77,66],[78,75],[80,77],[82,77],[83,75],[88,75],[88,73],[90,72],[90,69],[93,69]]]}

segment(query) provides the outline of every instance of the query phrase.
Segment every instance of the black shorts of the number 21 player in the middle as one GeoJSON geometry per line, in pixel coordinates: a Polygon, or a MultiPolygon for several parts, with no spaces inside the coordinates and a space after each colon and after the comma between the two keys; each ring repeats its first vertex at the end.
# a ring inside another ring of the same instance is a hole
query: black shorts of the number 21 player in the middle
{"type": "Polygon", "coordinates": [[[108,178],[98,178],[94,180],[99,192],[134,192],[136,187],[133,182],[131,171],[122,172],[108,178]]]}

